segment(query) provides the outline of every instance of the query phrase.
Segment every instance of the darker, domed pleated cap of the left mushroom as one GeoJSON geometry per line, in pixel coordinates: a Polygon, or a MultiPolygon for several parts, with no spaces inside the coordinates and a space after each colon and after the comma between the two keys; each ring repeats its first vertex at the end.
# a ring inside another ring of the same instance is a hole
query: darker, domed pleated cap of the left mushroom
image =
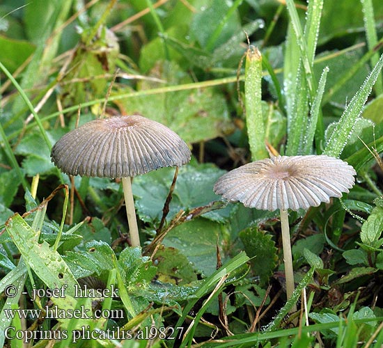
{"type": "Polygon", "coordinates": [[[138,115],[87,122],[65,134],[51,152],[63,173],[97,177],[134,177],[181,166],[190,156],[178,134],[138,115]]]}

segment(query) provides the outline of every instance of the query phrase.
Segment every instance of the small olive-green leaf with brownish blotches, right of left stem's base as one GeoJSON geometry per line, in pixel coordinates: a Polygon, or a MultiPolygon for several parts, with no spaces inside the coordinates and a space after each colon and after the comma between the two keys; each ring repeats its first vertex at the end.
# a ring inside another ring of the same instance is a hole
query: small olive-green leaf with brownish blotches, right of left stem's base
{"type": "Polygon", "coordinates": [[[197,280],[189,260],[175,248],[160,246],[152,259],[157,267],[157,280],[162,283],[186,285],[197,280]]]}

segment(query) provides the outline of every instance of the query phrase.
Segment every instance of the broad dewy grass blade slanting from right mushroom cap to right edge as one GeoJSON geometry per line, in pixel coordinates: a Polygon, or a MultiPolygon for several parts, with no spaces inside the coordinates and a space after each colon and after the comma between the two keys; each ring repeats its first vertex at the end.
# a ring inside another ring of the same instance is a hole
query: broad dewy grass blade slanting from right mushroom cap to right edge
{"type": "Polygon", "coordinates": [[[373,68],[373,71],[367,77],[364,84],[359,91],[354,95],[350,104],[346,106],[341,119],[336,123],[334,132],[331,134],[327,146],[325,148],[325,155],[339,157],[347,143],[347,139],[352,134],[354,124],[361,114],[364,104],[370,95],[371,90],[375,84],[377,77],[380,74],[380,70],[383,67],[383,55],[380,56],[377,65],[373,68]]]}

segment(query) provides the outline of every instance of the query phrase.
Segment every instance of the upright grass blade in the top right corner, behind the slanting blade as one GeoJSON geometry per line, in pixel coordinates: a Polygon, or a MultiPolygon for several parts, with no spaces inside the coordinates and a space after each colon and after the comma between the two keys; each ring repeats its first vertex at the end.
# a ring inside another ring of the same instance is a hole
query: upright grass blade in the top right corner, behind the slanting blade
{"type": "MultiPolygon", "coordinates": [[[[363,7],[364,29],[366,30],[368,49],[375,51],[374,47],[377,45],[377,33],[375,28],[377,27],[377,24],[375,23],[374,18],[373,1],[361,0],[361,5],[363,7]]],[[[379,54],[375,52],[375,54],[371,57],[371,65],[375,66],[377,64],[377,61],[379,61],[379,54]]],[[[377,77],[374,89],[377,95],[383,93],[382,74],[380,74],[379,77],[377,77]]]]}

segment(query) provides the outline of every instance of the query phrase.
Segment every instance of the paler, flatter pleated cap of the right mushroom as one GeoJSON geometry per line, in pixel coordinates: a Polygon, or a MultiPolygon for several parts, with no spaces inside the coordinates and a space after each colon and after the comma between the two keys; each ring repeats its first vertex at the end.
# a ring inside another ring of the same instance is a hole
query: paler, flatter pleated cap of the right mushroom
{"type": "Polygon", "coordinates": [[[226,173],[214,192],[261,210],[308,209],[349,192],[356,174],[345,161],[327,155],[277,156],[226,173]]]}

